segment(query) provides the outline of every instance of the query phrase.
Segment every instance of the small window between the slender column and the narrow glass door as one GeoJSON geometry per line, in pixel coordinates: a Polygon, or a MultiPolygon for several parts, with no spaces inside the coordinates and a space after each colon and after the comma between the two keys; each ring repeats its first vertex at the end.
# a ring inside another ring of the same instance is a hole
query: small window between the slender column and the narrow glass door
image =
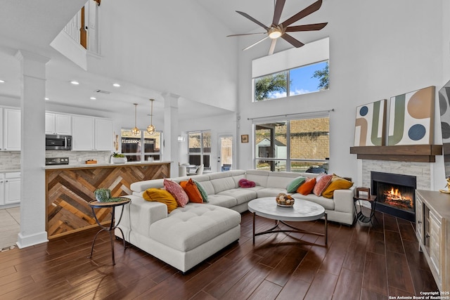
{"type": "Polygon", "coordinates": [[[189,164],[210,168],[211,131],[188,132],[189,164]]]}

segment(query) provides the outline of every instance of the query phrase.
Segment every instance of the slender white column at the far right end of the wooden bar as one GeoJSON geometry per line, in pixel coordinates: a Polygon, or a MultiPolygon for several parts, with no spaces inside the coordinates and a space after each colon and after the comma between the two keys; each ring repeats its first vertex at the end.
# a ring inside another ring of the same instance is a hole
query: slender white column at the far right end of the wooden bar
{"type": "Polygon", "coordinates": [[[164,97],[164,151],[162,160],[170,164],[170,176],[178,176],[179,149],[178,149],[178,99],[180,96],[173,93],[163,93],[164,97]]]}

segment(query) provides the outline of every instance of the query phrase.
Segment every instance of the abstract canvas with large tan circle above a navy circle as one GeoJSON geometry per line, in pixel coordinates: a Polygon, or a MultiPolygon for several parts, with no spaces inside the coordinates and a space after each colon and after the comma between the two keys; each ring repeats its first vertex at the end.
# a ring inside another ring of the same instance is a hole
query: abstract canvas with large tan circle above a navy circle
{"type": "Polygon", "coordinates": [[[434,115],[435,86],[392,97],[387,145],[430,145],[434,115]]]}

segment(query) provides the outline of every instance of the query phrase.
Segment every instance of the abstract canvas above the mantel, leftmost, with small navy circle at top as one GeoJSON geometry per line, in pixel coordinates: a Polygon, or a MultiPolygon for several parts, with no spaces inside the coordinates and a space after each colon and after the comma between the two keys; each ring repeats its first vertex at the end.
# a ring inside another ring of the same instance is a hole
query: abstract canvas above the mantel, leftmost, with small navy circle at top
{"type": "Polygon", "coordinates": [[[383,99],[356,107],[355,146],[385,145],[386,101],[383,99]]]}

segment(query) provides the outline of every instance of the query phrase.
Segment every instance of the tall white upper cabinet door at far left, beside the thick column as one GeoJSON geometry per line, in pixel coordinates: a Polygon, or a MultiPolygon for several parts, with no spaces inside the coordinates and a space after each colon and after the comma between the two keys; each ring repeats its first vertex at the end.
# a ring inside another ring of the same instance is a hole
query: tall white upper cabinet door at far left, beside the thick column
{"type": "Polygon", "coordinates": [[[4,108],[4,136],[2,150],[20,151],[20,110],[4,108]]]}

